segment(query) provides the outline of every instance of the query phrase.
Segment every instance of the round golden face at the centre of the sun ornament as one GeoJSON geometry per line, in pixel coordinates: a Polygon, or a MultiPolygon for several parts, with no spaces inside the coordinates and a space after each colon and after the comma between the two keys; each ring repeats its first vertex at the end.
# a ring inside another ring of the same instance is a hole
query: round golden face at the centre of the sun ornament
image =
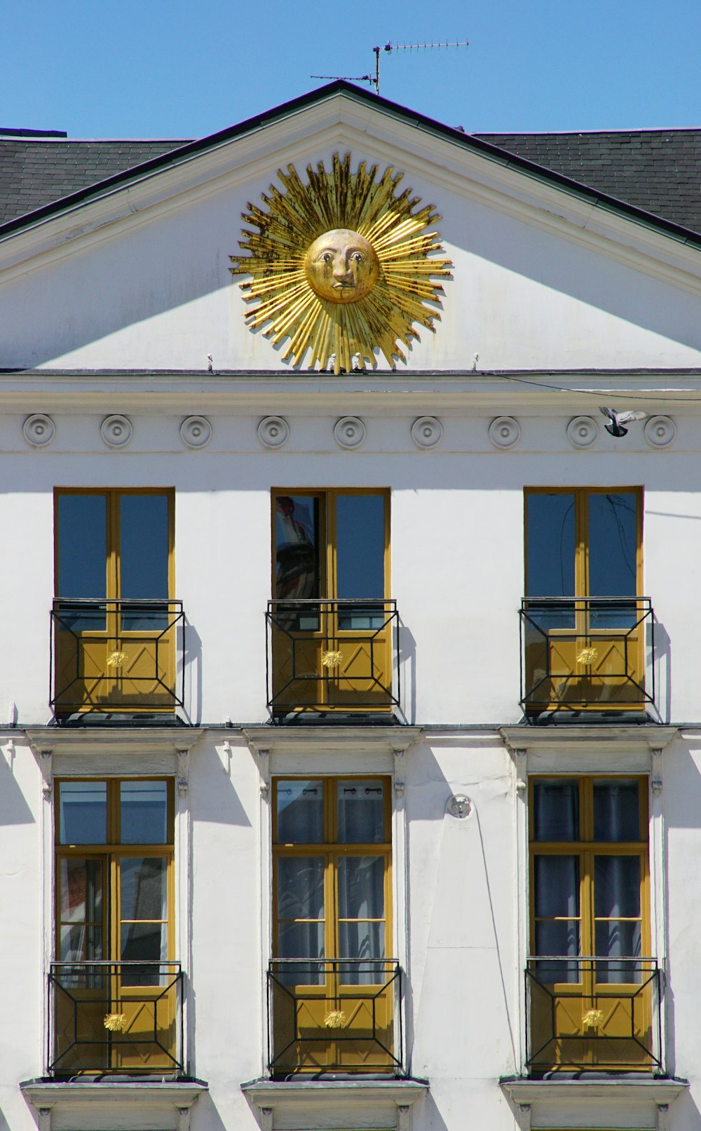
{"type": "Polygon", "coordinates": [[[310,245],[304,271],[312,291],[328,302],[357,302],[378,282],[380,261],[358,232],[337,227],[310,245]]]}

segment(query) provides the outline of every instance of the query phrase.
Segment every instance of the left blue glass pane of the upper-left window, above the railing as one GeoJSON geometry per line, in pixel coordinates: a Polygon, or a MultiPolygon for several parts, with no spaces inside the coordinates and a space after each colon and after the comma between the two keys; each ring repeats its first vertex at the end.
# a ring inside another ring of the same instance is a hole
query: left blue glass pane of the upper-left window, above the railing
{"type": "Polygon", "coordinates": [[[58,497],[58,597],[107,595],[107,500],[99,494],[58,497]]]}

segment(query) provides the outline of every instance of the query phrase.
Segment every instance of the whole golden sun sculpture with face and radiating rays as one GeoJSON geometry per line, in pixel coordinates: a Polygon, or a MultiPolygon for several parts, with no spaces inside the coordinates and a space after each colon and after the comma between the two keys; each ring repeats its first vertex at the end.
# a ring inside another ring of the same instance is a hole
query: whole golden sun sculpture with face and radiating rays
{"type": "Polygon", "coordinates": [[[375,365],[375,347],[390,365],[406,361],[399,346],[418,340],[414,323],[434,330],[435,309],[443,287],[434,279],[451,278],[449,259],[436,232],[425,228],[441,217],[433,205],[421,206],[412,189],[396,195],[403,178],[361,162],[350,171],[350,154],[334,154],[327,173],[323,162],[306,166],[308,183],[294,165],[278,171],[284,191],[271,184],[262,193],[267,211],[249,202],[239,247],[232,256],[233,275],[250,275],[241,284],[256,305],[245,319],[253,330],[278,344],[287,338],[283,361],[301,365],[308,351],[310,369],[350,372],[375,365]],[[427,305],[432,304],[432,305],[427,305]]]}

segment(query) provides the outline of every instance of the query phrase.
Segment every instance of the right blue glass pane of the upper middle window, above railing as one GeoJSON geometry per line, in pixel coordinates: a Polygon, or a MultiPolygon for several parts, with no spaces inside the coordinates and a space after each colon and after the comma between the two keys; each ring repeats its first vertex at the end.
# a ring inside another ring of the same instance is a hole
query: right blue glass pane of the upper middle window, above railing
{"type": "Polygon", "coordinates": [[[338,597],[384,597],[384,498],[336,499],[338,597]]]}

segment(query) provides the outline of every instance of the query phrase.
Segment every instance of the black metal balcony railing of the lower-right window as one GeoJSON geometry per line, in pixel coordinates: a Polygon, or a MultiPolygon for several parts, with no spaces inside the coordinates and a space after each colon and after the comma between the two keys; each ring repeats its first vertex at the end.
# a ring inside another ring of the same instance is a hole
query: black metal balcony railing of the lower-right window
{"type": "Polygon", "coordinates": [[[663,1070],[654,958],[529,958],[526,1063],[534,1074],[663,1070]]]}

